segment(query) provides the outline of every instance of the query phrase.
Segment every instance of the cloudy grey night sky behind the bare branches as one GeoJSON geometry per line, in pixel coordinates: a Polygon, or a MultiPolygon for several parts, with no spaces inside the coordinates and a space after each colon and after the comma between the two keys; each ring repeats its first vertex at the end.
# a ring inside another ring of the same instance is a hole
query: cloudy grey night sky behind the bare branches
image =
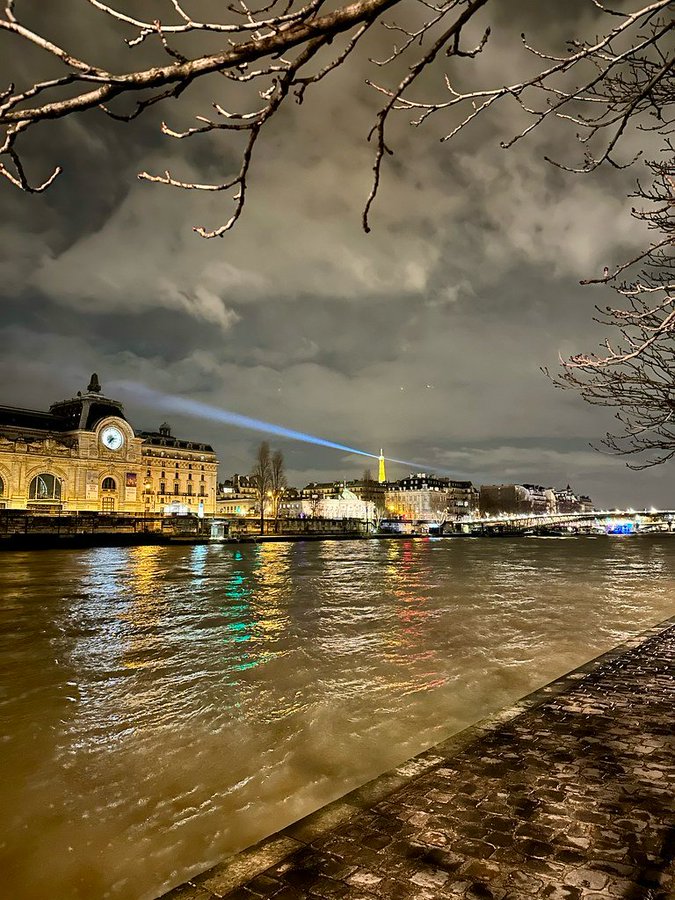
{"type": "MultiPolygon", "coordinates": [[[[18,12],[41,5],[19,0],[18,12]]],[[[133,51],[122,32],[93,10],[76,19],[76,6],[50,2],[49,33],[63,40],[68,33],[88,58],[129,65],[133,51]]],[[[133,6],[156,14],[158,0],[133,6]]],[[[444,65],[466,85],[501,84],[531,66],[521,31],[562,49],[568,37],[595,34],[598,16],[587,0],[501,0],[481,18],[493,26],[482,57],[444,65]]],[[[132,125],[94,111],[27,136],[34,177],[55,162],[65,172],[39,196],[0,184],[0,403],[46,408],[84,389],[97,371],[104,393],[125,403],[136,427],[156,428],[168,417],[179,436],[211,442],[221,477],[250,470],[259,434],[158,412],[119,383],[374,453],[382,446],[420,469],[477,483],[569,482],[597,504],[672,508],[671,470],[632,472],[593,451],[589,442],[612,427],[610,413],[556,390],[540,371],[555,369],[558,353],[597,346],[593,307],[614,295],[579,281],[645,242],[626,196],[643,167],[561,172],[543,157],[580,161],[567,127],[537,130],[503,150],[500,139],[523,122],[508,103],[443,144],[447,118],[414,129],[400,114],[390,138],[396,153],[365,234],[372,167],[365,138],[380,98],[364,79],[384,77],[367,56],[386,38],[377,31],[367,51],[272,122],[257,148],[243,218],[223,239],[202,240],[192,226],[229,218],[224,195],[135,177],[166,168],[197,181],[232,174],[236,137],[179,142],[159,133],[162,118],[185,127],[212,100],[232,102],[222,78],[196,83],[179,103],[132,125]]],[[[16,39],[0,35],[3,83],[22,84],[39,58],[18,51],[16,39]]],[[[137,65],[150,52],[138,54],[137,65]]],[[[418,96],[442,96],[443,71],[426,73],[418,96]]],[[[626,158],[639,139],[628,136],[626,158]]],[[[364,468],[363,458],[340,452],[272,445],[300,486],[359,477],[364,468]]]]}

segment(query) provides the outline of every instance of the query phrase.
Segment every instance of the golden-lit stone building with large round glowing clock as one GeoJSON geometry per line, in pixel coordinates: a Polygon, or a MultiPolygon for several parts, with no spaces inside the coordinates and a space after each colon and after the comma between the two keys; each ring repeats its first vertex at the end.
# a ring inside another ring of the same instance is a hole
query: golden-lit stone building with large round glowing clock
{"type": "Polygon", "coordinates": [[[34,512],[215,513],[218,460],[164,424],[136,431],[92,375],[49,412],[0,407],[0,507],[34,512]]]}

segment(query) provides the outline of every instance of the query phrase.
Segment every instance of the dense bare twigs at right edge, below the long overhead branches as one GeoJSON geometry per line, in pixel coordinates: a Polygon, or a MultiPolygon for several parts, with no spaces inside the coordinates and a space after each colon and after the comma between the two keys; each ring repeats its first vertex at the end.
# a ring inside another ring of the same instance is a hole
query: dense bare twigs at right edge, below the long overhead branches
{"type": "Polygon", "coordinates": [[[605,338],[600,352],[561,359],[562,372],[553,378],[588,403],[615,410],[620,430],[608,433],[602,447],[640,457],[628,463],[633,469],[675,456],[675,154],[669,142],[664,156],[648,164],[651,184],[639,185],[636,194],[647,205],[633,211],[660,240],[615,272],[586,282],[609,283],[621,298],[621,305],[597,307],[596,321],[615,337],[605,338]],[[638,266],[631,281],[617,280],[638,266]]]}

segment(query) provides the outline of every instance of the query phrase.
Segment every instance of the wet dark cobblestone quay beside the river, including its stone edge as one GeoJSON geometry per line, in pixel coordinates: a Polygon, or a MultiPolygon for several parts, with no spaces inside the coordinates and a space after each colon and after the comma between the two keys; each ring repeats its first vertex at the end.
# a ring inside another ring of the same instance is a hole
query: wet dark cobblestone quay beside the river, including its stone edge
{"type": "Polygon", "coordinates": [[[672,900],[675,625],[632,643],[167,900],[672,900]]]}

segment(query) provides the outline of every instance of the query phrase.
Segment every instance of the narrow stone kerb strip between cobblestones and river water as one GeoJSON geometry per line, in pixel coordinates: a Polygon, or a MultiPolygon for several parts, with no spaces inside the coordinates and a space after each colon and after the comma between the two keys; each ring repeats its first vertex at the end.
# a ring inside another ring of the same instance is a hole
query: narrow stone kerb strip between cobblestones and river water
{"type": "MultiPolygon", "coordinates": [[[[675,629],[675,616],[629,637],[599,656],[526,694],[510,706],[480,719],[449,738],[422,750],[382,775],[320,807],[315,812],[309,813],[280,831],[263,838],[251,847],[191,876],[183,884],[162,894],[160,900],[219,900],[219,898],[229,897],[231,894],[233,897],[237,895],[238,900],[239,888],[252,879],[262,876],[262,873],[271,867],[283,864],[284,859],[292,853],[302,848],[310,848],[310,845],[319,838],[327,837],[331,832],[346,825],[400,788],[428,775],[434,769],[442,769],[463,750],[479,744],[485,738],[495,734],[506,725],[516,722],[519,717],[536,710],[542,704],[578,688],[596,670],[610,666],[636,648],[647,647],[650,641],[671,629],[675,629]]],[[[352,880],[352,884],[356,886],[358,879],[352,880]]],[[[365,883],[363,886],[367,887],[365,883]]],[[[427,887],[431,889],[430,885],[427,887]]],[[[420,885],[420,890],[422,888],[424,885],[420,885]]],[[[241,896],[243,897],[244,894],[242,893],[241,896]]],[[[255,895],[247,891],[245,896],[253,900],[255,895]]],[[[421,893],[419,896],[422,897],[423,894],[421,893]]],[[[467,896],[473,897],[474,895],[468,894],[467,896]]],[[[567,898],[577,895],[550,893],[545,896],[567,898]]],[[[601,900],[605,895],[595,893],[594,896],[601,900]]],[[[651,895],[644,895],[645,898],[649,896],[651,895]]],[[[367,897],[373,897],[368,890],[364,892],[364,900],[367,897]]],[[[583,897],[585,898],[586,894],[583,897]]],[[[675,898],[675,894],[673,897],[675,898]]]]}

